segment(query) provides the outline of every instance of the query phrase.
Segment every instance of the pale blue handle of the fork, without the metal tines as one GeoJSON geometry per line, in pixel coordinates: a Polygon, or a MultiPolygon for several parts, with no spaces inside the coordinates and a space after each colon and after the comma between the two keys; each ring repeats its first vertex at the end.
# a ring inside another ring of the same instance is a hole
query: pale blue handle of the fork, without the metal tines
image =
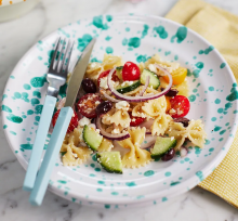
{"type": "Polygon", "coordinates": [[[34,142],[30,160],[23,184],[24,191],[31,191],[34,187],[55,104],[56,98],[50,95],[45,96],[39,127],[37,130],[37,135],[34,142]]]}

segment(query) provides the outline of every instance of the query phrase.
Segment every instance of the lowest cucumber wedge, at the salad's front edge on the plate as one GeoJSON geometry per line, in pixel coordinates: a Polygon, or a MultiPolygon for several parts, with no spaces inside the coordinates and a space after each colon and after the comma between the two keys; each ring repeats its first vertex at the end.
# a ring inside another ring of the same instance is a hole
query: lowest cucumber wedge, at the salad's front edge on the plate
{"type": "Polygon", "coordinates": [[[96,154],[96,159],[107,172],[122,174],[120,152],[102,152],[96,154]]]}

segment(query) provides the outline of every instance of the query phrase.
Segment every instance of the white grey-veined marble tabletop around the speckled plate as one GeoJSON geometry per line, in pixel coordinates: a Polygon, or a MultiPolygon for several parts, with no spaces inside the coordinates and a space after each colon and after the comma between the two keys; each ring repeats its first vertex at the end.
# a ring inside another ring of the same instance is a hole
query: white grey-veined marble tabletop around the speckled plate
{"type": "MultiPolygon", "coordinates": [[[[238,15],[237,0],[207,0],[238,15]]],[[[70,22],[102,13],[137,13],[163,16],[176,0],[42,0],[30,13],[0,24],[0,96],[4,84],[28,49],[39,39],[70,22]]],[[[1,99],[1,98],[0,98],[1,99]]],[[[1,120],[1,118],[0,118],[1,120]]],[[[160,221],[238,221],[238,210],[199,187],[153,207],[130,210],[102,210],[67,202],[50,192],[41,207],[28,204],[22,191],[25,171],[16,160],[0,129],[0,220],[160,220],[160,221]]]]}

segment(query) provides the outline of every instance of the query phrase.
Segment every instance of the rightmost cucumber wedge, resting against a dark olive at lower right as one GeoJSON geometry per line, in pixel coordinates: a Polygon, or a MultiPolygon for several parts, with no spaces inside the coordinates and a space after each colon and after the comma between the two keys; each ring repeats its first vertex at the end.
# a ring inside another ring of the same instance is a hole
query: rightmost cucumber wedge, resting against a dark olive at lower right
{"type": "Polygon", "coordinates": [[[158,136],[156,139],[156,143],[154,147],[150,150],[151,158],[158,159],[162,155],[164,155],[167,152],[169,152],[171,148],[173,148],[176,145],[176,140],[171,138],[161,138],[158,136]]]}

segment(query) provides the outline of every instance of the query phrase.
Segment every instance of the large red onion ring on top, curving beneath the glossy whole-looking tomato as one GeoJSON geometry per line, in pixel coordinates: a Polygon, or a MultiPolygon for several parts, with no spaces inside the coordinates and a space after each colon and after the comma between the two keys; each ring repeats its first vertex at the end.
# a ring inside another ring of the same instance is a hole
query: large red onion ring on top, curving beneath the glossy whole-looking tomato
{"type": "Polygon", "coordinates": [[[110,73],[109,73],[109,75],[108,75],[108,77],[107,77],[108,88],[109,88],[109,90],[111,91],[111,93],[113,93],[115,96],[117,96],[118,99],[121,99],[121,100],[123,100],[123,101],[128,101],[128,102],[144,102],[144,101],[148,101],[148,100],[158,99],[158,98],[160,98],[160,96],[167,94],[168,91],[170,90],[170,88],[172,87],[172,76],[170,75],[170,73],[169,73],[167,69],[160,67],[159,65],[158,65],[158,66],[156,65],[156,67],[158,67],[159,69],[163,70],[164,74],[166,74],[166,75],[169,77],[169,79],[170,79],[169,86],[168,86],[162,92],[160,92],[160,93],[153,94],[153,95],[148,95],[148,96],[129,96],[129,95],[123,95],[123,94],[119,93],[117,90],[115,90],[114,86],[111,84],[111,76],[113,76],[113,74],[114,74],[114,72],[115,72],[115,69],[116,69],[116,67],[114,67],[114,68],[110,70],[110,73]]]}

